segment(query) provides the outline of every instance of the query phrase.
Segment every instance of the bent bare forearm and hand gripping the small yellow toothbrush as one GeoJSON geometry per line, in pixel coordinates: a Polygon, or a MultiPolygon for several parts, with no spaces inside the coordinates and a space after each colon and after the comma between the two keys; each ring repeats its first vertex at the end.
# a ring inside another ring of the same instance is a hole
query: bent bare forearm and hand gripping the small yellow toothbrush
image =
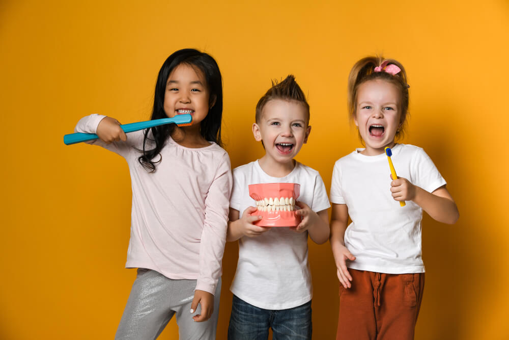
{"type": "Polygon", "coordinates": [[[408,179],[403,177],[393,180],[390,185],[394,200],[414,201],[435,221],[454,224],[460,217],[458,207],[445,186],[429,193],[420,187],[414,186],[408,179]]]}

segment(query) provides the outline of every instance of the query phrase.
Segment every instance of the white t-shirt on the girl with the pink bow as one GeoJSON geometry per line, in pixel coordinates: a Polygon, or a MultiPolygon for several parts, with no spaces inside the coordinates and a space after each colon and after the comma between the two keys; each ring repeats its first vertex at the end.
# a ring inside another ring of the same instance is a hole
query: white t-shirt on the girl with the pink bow
{"type": "MultiPolygon", "coordinates": [[[[346,204],[352,219],[345,232],[345,245],[356,259],[347,266],[389,274],[423,273],[422,208],[412,201],[400,206],[391,196],[385,153],[366,156],[362,150],[336,161],[332,172],[330,201],[346,204]]],[[[445,185],[422,148],[396,144],[391,150],[398,177],[428,192],[445,185]]]]}

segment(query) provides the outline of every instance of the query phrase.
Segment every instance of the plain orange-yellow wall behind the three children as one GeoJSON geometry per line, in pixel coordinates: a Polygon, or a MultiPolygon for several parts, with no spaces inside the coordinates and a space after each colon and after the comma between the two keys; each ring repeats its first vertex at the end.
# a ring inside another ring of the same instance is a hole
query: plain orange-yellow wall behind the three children
{"type": "MultiPolygon", "coordinates": [[[[460,220],[423,218],[426,292],[417,339],[506,339],[509,2],[0,2],[0,338],[106,339],[134,270],[123,268],[131,190],[124,160],[64,146],[77,120],[149,118],[173,51],[210,53],[224,80],[232,166],[263,155],[251,135],[271,79],[295,74],[313,126],[298,160],[330,187],[359,146],[346,81],[371,54],[398,59],[410,88],[407,137],[448,182],[460,220]]],[[[328,244],[310,245],[316,339],[332,339],[337,279],[328,244]]],[[[225,339],[237,245],[224,255],[218,339],[225,339]]],[[[161,335],[178,338],[175,320],[161,335]]]]}

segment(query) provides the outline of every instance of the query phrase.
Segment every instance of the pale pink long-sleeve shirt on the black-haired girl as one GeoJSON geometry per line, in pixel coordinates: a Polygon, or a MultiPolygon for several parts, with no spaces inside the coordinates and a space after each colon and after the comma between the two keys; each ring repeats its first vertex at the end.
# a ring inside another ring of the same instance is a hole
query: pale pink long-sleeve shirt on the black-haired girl
{"type": "MultiPolygon", "coordinates": [[[[75,132],[95,134],[104,117],[83,117],[75,132]]],[[[132,212],[126,268],[196,279],[195,289],[214,294],[232,190],[228,153],[215,143],[187,148],[170,137],[160,152],[161,162],[150,173],[138,162],[141,153],[135,149],[142,148],[143,137],[143,131],[137,131],[128,134],[126,142],[91,142],[123,156],[129,166],[132,212]]]]}

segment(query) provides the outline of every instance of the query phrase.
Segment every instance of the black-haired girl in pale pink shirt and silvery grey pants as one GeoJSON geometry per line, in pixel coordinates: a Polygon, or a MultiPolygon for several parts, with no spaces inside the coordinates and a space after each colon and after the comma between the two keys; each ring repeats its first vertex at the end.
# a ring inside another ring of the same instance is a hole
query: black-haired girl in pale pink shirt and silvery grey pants
{"type": "Polygon", "coordinates": [[[116,339],[154,339],[174,315],[181,338],[215,338],[232,175],[221,148],[221,73],[195,49],[169,56],[157,78],[151,119],[179,114],[192,125],[126,136],[116,119],[91,115],[75,128],[96,133],[92,144],[123,156],[131,175],[126,268],[138,272],[116,339]]]}

